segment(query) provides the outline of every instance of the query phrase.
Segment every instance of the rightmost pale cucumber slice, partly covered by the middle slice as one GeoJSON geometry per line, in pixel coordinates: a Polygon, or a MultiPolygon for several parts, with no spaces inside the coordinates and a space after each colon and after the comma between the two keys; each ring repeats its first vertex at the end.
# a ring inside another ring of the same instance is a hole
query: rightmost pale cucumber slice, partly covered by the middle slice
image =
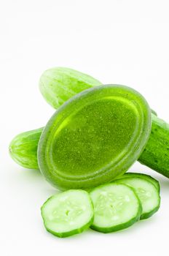
{"type": "Polygon", "coordinates": [[[142,177],[121,178],[118,182],[135,189],[143,208],[141,219],[147,219],[158,211],[160,208],[160,193],[152,182],[142,177]]]}

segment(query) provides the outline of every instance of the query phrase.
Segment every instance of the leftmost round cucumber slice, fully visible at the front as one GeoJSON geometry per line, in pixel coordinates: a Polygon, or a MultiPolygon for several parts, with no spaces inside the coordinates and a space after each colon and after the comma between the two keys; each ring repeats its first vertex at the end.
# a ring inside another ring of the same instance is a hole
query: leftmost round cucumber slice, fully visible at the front
{"type": "Polygon", "coordinates": [[[58,237],[82,233],[93,222],[93,203],[84,190],[68,190],[50,197],[42,206],[47,231],[58,237]]]}

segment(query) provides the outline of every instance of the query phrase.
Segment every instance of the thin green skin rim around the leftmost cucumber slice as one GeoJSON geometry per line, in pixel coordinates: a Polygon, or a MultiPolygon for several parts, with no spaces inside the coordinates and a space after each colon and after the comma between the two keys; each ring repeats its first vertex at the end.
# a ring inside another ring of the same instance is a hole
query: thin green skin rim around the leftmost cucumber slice
{"type": "MultiPolygon", "coordinates": [[[[81,189],[79,189],[81,190],[81,189]]],[[[84,190],[82,190],[84,192],[84,190]]],[[[87,193],[87,192],[86,192],[87,193]]],[[[87,193],[88,194],[88,193],[87,193]]],[[[45,218],[43,217],[43,207],[45,206],[45,204],[50,200],[51,197],[49,197],[46,202],[44,202],[43,206],[41,207],[41,215],[42,215],[42,219],[43,219],[43,222],[44,222],[44,227],[46,228],[47,232],[51,233],[52,235],[54,236],[58,236],[59,238],[66,238],[68,236],[74,236],[74,235],[77,235],[79,233],[82,233],[84,232],[85,230],[87,230],[92,224],[93,224],[93,219],[94,219],[94,210],[93,210],[93,216],[91,217],[91,219],[89,220],[89,222],[87,222],[86,225],[84,225],[83,227],[80,227],[78,229],[75,229],[75,230],[71,230],[69,232],[64,232],[64,233],[57,233],[57,232],[54,232],[53,230],[50,230],[47,225],[45,225],[45,218]]],[[[90,198],[90,195],[88,194],[88,198],[89,198],[89,201],[90,201],[90,206],[91,208],[93,209],[93,202],[90,198]]]]}

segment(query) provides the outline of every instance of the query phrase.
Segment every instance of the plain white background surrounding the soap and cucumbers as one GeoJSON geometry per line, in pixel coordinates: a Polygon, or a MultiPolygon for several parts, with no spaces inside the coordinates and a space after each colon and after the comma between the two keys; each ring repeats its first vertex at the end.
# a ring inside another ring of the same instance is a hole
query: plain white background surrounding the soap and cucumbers
{"type": "Polygon", "coordinates": [[[103,83],[132,86],[169,122],[169,2],[149,0],[0,1],[0,253],[21,255],[168,255],[169,180],[161,207],[118,233],[88,230],[60,239],[43,227],[40,206],[55,193],[36,170],[8,154],[18,133],[44,126],[54,110],[38,82],[50,67],[71,67],[103,83]]]}

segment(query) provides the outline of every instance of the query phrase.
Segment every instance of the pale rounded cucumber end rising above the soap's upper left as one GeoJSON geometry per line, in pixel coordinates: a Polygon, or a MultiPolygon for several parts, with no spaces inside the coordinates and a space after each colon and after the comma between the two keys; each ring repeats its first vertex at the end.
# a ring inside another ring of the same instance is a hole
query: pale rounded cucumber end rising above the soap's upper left
{"type": "Polygon", "coordinates": [[[100,85],[101,82],[90,75],[66,67],[47,69],[39,80],[44,99],[55,109],[75,94],[100,85]]]}

